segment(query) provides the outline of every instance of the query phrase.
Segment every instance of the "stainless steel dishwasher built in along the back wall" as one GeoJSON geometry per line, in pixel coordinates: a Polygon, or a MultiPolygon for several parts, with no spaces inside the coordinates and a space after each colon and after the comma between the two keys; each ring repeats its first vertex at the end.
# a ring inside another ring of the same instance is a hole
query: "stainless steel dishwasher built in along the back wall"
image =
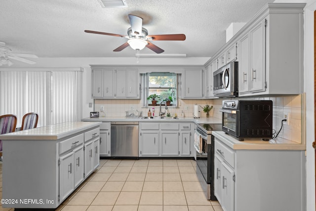
{"type": "Polygon", "coordinates": [[[138,122],[111,122],[111,157],[138,158],[138,122]]]}

